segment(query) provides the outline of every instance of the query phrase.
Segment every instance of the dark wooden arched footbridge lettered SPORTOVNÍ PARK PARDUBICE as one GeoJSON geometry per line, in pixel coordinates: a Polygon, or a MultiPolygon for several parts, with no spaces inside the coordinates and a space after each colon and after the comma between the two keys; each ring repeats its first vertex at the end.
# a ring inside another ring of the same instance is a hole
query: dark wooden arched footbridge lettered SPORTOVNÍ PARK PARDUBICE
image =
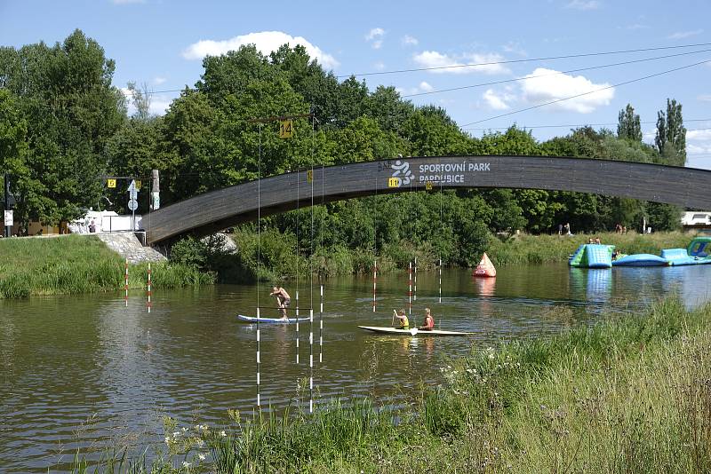
{"type": "Polygon", "coordinates": [[[522,188],[711,209],[711,170],[555,156],[434,156],[300,170],[218,189],[144,216],[147,241],[208,235],[314,203],[427,188],[522,188]],[[259,189],[258,189],[259,188],[259,189]],[[259,199],[258,199],[259,198],[259,199]]]}

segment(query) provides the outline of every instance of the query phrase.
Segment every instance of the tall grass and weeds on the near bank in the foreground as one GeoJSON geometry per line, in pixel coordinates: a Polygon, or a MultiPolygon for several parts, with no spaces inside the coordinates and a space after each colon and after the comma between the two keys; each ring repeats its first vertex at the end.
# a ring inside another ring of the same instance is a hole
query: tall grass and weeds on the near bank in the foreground
{"type": "MultiPolygon", "coordinates": [[[[562,310],[564,311],[564,309],[562,310]]],[[[441,367],[405,409],[367,399],[182,427],[97,472],[708,472],[711,305],[676,298],[441,367]]],[[[121,452],[114,448],[114,453],[121,452]]],[[[77,455],[75,472],[87,470],[77,455]]]]}

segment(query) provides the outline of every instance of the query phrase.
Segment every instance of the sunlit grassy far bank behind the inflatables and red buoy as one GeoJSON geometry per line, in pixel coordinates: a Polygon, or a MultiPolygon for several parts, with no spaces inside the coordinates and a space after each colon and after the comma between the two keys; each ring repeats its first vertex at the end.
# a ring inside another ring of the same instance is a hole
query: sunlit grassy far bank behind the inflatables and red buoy
{"type": "Polygon", "coordinates": [[[595,233],[577,235],[517,235],[507,241],[492,241],[486,250],[494,265],[541,264],[564,262],[582,243],[599,237],[601,243],[611,244],[624,254],[659,255],[661,249],[686,249],[693,239],[691,233],[664,232],[595,233]]]}

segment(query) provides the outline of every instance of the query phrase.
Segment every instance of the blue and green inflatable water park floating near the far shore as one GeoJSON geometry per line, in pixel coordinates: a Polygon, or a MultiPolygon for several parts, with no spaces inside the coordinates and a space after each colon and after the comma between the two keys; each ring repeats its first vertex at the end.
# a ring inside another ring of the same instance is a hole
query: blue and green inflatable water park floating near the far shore
{"type": "Polygon", "coordinates": [[[663,249],[660,255],[624,255],[619,254],[614,245],[585,243],[568,260],[568,265],[578,268],[705,264],[711,264],[711,237],[696,237],[686,249],[663,249]]]}

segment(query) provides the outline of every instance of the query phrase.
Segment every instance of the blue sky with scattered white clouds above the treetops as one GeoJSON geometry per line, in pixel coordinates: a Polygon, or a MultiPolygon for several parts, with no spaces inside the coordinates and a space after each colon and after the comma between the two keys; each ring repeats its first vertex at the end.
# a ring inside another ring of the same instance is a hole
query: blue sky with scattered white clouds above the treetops
{"type": "Polygon", "coordinates": [[[0,0],[0,45],[53,44],[80,28],[116,60],[116,87],[155,91],[155,114],[178,96],[161,91],[200,79],[204,55],[244,43],[265,52],[303,44],[341,79],[395,86],[475,136],[512,124],[540,140],[586,124],[616,130],[630,103],[651,143],[657,112],[676,99],[687,165],[711,170],[708,18],[707,0],[0,0]],[[629,50],[648,51],[599,54],[629,50]],[[561,56],[578,57],[552,59],[561,56]],[[403,69],[428,70],[393,73],[403,69]]]}

